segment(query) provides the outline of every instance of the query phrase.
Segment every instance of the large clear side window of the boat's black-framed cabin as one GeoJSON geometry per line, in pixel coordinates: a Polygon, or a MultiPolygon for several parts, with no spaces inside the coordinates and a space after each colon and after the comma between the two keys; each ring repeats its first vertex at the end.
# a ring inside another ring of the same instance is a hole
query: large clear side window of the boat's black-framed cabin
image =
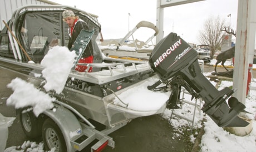
{"type": "Polygon", "coordinates": [[[60,12],[28,12],[23,19],[23,47],[35,63],[40,63],[48,50],[61,45],[60,12]]]}

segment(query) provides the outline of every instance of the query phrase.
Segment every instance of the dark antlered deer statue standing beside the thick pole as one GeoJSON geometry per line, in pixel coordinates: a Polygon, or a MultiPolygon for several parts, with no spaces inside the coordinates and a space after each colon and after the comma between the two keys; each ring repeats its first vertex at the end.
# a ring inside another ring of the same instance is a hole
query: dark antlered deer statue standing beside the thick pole
{"type": "MultiPolygon", "coordinates": [[[[232,34],[233,36],[236,37],[236,32],[233,29],[230,29],[229,27],[224,27],[223,30],[221,31],[225,31],[228,34],[232,34]]],[[[223,52],[221,52],[220,54],[217,55],[216,60],[217,62],[215,63],[215,72],[216,71],[216,67],[217,65],[221,62],[221,65],[223,65],[223,67],[228,71],[228,69],[224,66],[224,63],[226,62],[227,59],[233,58],[235,56],[235,47],[229,48],[223,52]]]]}

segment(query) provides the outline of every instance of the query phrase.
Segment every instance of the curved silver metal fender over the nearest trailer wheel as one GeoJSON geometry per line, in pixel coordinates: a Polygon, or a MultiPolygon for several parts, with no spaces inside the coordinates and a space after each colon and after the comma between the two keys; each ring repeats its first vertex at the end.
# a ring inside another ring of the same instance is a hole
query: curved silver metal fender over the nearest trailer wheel
{"type": "Polygon", "coordinates": [[[70,141],[76,139],[82,133],[82,127],[76,116],[63,106],[45,110],[43,113],[55,121],[63,134],[67,151],[72,151],[70,141]]]}

